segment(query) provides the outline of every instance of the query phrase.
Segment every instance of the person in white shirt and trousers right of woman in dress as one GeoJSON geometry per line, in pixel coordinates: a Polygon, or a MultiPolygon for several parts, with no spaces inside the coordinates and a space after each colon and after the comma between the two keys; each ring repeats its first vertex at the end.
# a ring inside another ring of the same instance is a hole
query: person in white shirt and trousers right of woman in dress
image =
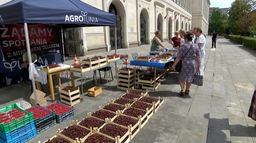
{"type": "Polygon", "coordinates": [[[194,28],[195,36],[197,37],[196,45],[198,46],[200,50],[200,56],[201,56],[201,67],[200,67],[200,75],[204,76],[204,56],[205,56],[205,44],[206,39],[203,35],[203,31],[201,28],[194,28]]]}

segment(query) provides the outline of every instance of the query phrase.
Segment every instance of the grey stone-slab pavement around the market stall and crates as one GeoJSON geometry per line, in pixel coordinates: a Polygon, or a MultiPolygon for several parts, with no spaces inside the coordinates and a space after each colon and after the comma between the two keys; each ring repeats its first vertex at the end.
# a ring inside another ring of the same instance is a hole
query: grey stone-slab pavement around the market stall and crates
{"type": "MultiPolygon", "coordinates": [[[[169,44],[165,43],[167,47],[169,44]]],[[[217,48],[211,49],[211,37],[207,37],[205,56],[204,86],[191,86],[190,95],[179,96],[180,86],[178,74],[166,76],[156,92],[149,92],[151,96],[163,96],[165,101],[154,114],[147,125],[131,141],[135,142],[256,142],[256,128],[252,119],[247,117],[251,97],[256,83],[256,51],[242,45],[231,43],[219,38],[217,48]]],[[[118,53],[137,52],[146,54],[150,45],[143,45],[130,49],[118,49],[118,53]]],[[[113,52],[111,52],[113,53],[113,52]]],[[[92,55],[107,55],[107,53],[93,53],[92,55]]],[[[89,55],[90,56],[90,55],[89,55]]],[[[130,59],[132,57],[130,56],[130,59]]],[[[73,63],[73,60],[67,61],[73,63]]],[[[118,67],[124,66],[121,63],[118,67]]],[[[115,72],[113,70],[115,76],[115,72]]],[[[81,85],[79,74],[76,85],[81,85]]],[[[56,77],[54,77],[57,83],[56,77]]],[[[102,94],[96,98],[83,95],[84,102],[75,105],[76,115],[67,122],[57,124],[49,130],[38,134],[28,142],[37,142],[54,136],[57,129],[67,127],[73,120],[82,120],[88,112],[98,110],[100,105],[106,105],[110,99],[115,99],[123,90],[116,89],[116,79],[111,87],[106,88],[103,80],[102,94]]],[[[62,79],[64,85],[66,80],[62,79]]],[[[98,83],[100,81],[98,80],[98,83]]],[[[92,73],[85,83],[84,91],[94,85],[92,73]]],[[[81,87],[81,86],[80,86],[81,87]]],[[[30,82],[20,83],[0,89],[0,107],[14,103],[17,100],[29,100],[30,82]]],[[[49,87],[44,86],[47,95],[49,87]]],[[[55,93],[58,90],[55,90],[55,93]]],[[[59,95],[56,94],[59,99],[59,95]]],[[[50,96],[47,96],[50,101],[50,96]]]]}

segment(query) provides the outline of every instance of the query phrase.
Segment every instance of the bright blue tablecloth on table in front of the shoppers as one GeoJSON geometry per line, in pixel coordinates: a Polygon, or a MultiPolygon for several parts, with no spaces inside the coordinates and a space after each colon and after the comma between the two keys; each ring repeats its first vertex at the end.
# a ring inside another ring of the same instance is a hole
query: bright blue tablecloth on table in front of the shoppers
{"type": "MultiPolygon", "coordinates": [[[[173,56],[172,59],[175,57],[177,57],[177,56],[176,55],[173,56]]],[[[172,61],[172,59],[167,62],[140,62],[140,61],[131,60],[130,65],[147,66],[147,67],[164,69],[165,65],[170,63],[172,61]]]]}

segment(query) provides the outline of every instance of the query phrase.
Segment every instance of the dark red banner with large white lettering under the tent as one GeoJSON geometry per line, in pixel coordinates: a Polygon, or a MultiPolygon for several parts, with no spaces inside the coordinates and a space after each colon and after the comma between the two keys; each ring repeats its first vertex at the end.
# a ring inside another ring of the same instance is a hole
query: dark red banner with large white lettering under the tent
{"type": "MultiPolygon", "coordinates": [[[[29,25],[31,51],[36,55],[60,53],[60,29],[46,25],[29,25]]],[[[5,60],[22,57],[27,51],[25,30],[22,24],[0,26],[0,46],[5,60]]]]}

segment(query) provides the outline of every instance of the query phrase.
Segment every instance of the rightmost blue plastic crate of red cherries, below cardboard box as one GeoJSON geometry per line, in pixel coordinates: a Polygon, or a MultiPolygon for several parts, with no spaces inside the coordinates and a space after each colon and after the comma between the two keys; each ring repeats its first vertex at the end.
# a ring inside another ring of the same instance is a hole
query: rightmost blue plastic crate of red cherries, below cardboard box
{"type": "Polygon", "coordinates": [[[46,108],[55,111],[57,123],[62,123],[75,115],[75,107],[64,105],[59,101],[48,105],[46,108]]]}

